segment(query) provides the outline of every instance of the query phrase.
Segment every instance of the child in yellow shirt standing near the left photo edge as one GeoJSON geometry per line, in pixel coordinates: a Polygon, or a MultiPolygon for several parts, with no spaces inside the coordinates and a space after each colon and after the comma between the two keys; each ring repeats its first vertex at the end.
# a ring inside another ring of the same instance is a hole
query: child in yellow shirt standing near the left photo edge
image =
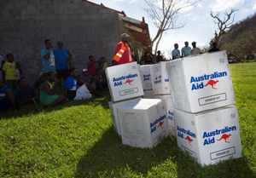
{"type": "Polygon", "coordinates": [[[16,88],[15,57],[12,54],[6,55],[7,62],[3,64],[3,83],[9,86],[11,91],[16,88]]]}

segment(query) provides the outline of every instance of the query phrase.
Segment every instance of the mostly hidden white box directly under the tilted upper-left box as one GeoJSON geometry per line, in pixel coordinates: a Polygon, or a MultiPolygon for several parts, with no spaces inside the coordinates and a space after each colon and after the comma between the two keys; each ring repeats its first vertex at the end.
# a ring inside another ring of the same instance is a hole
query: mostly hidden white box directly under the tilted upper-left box
{"type": "Polygon", "coordinates": [[[140,100],[140,99],[141,98],[132,99],[132,100],[122,100],[122,101],[119,101],[119,102],[113,102],[113,101],[108,102],[108,106],[109,106],[109,109],[110,109],[110,112],[111,112],[111,118],[112,118],[112,121],[113,121],[113,129],[118,135],[121,135],[121,130],[120,130],[120,125],[119,125],[119,115],[118,115],[118,112],[117,112],[117,108],[119,106],[124,105],[127,102],[137,102],[137,100],[140,100]]]}

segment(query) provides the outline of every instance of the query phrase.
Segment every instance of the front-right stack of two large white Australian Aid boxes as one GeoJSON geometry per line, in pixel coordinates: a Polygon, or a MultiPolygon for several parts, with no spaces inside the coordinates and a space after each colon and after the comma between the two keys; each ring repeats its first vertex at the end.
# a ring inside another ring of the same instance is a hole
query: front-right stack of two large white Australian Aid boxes
{"type": "Polygon", "coordinates": [[[241,157],[236,102],[225,51],[166,64],[177,145],[201,165],[241,157]]]}

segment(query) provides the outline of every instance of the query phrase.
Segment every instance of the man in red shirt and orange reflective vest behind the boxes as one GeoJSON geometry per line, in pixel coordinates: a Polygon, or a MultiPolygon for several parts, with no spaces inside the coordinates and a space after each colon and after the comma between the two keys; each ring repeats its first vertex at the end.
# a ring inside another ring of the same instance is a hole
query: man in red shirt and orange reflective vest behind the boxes
{"type": "Polygon", "coordinates": [[[119,65],[120,64],[126,64],[126,63],[129,63],[129,62],[132,61],[132,59],[131,59],[131,51],[130,51],[130,48],[128,46],[128,37],[129,37],[129,35],[127,35],[127,33],[123,33],[121,35],[121,42],[118,43],[118,45],[117,45],[117,47],[115,49],[115,52],[118,53],[119,50],[121,49],[122,43],[125,44],[125,52],[122,55],[122,57],[120,58],[120,60],[118,61],[119,65]]]}

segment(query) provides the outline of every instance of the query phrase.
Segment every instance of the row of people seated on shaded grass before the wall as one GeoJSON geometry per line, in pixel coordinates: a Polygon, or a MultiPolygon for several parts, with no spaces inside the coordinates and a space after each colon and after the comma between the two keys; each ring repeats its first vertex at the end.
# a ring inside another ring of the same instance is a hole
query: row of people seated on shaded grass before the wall
{"type": "MultiPolygon", "coordinates": [[[[47,80],[44,81],[43,73],[40,73],[40,78],[35,82],[34,86],[28,84],[27,78],[20,78],[20,84],[15,89],[14,94],[11,89],[3,83],[0,79],[0,111],[13,108],[19,110],[21,105],[40,103],[44,108],[52,107],[57,104],[65,103],[68,100],[86,100],[90,99],[92,95],[101,97],[102,95],[93,88],[90,83],[85,82],[79,76],[79,72],[76,68],[69,70],[70,76],[64,83],[64,95],[56,95],[57,88],[60,80],[55,78],[54,72],[47,73],[47,80]]],[[[87,71],[83,71],[84,77],[90,78],[87,71]]],[[[94,80],[96,86],[102,86],[98,83],[106,83],[105,78],[101,76],[101,70],[97,70],[97,75],[94,80]]],[[[104,85],[105,86],[105,85],[104,85]]]]}

